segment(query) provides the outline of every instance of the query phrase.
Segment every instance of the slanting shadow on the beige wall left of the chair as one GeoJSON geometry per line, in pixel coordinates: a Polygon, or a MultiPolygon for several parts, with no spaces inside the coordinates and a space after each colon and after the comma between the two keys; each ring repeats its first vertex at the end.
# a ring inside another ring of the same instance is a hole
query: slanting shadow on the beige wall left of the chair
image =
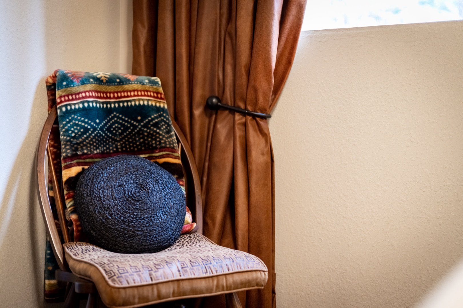
{"type": "Polygon", "coordinates": [[[42,98],[45,93],[45,78],[42,78],[32,101],[29,127],[1,201],[0,250],[6,254],[1,255],[0,268],[9,268],[8,271],[2,271],[0,279],[0,290],[7,290],[9,294],[5,296],[5,291],[2,291],[3,307],[62,306],[44,303],[43,292],[46,231],[38,205],[35,154],[47,116],[42,98]],[[21,296],[31,293],[34,296],[21,296]],[[21,298],[24,302],[8,302],[8,298],[10,301],[21,298]],[[30,302],[33,299],[35,301],[30,302]]]}

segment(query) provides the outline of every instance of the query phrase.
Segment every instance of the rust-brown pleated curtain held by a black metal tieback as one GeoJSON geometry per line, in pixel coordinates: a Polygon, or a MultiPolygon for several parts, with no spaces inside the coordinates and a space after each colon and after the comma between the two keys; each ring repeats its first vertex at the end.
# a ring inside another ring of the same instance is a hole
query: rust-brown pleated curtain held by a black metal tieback
{"type": "MultiPolygon", "coordinates": [[[[306,0],[134,0],[133,74],[161,79],[201,178],[204,235],[269,268],[243,307],[275,307],[275,201],[267,120],[205,108],[206,98],[270,113],[293,63],[306,0]]],[[[225,305],[224,296],[206,307],[225,305]]]]}

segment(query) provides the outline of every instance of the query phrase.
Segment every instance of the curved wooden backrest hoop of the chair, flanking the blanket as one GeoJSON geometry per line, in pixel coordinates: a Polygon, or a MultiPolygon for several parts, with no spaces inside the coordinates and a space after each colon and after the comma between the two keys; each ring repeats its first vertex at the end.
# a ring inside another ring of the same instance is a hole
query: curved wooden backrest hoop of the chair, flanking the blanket
{"type": "MultiPolygon", "coordinates": [[[[56,105],[51,109],[47,120],[45,121],[42,134],[38,144],[37,151],[37,183],[38,183],[38,200],[40,209],[42,210],[42,216],[44,217],[44,223],[47,228],[48,237],[50,239],[53,253],[55,254],[56,261],[61,270],[67,270],[66,260],[64,258],[63,246],[59,237],[58,229],[56,227],[55,218],[51,210],[50,199],[48,197],[48,176],[47,168],[53,182],[53,193],[56,203],[56,211],[60,222],[61,229],[63,230],[64,242],[69,242],[69,236],[67,233],[67,223],[63,213],[63,195],[62,195],[62,183],[59,183],[53,164],[51,161],[50,148],[48,145],[48,139],[50,137],[51,128],[56,120],[56,105]]],[[[180,127],[172,119],[172,125],[175,130],[175,135],[181,148],[181,163],[183,165],[183,172],[185,174],[185,190],[187,195],[187,205],[192,211],[193,220],[197,224],[197,232],[202,234],[202,197],[201,197],[201,185],[196,163],[194,162],[193,153],[187,143],[187,139],[181,133],[180,127]]]]}

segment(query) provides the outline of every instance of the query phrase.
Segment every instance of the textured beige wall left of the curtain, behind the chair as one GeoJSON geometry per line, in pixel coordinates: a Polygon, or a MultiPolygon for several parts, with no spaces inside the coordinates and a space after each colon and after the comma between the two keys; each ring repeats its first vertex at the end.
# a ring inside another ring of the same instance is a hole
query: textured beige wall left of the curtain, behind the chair
{"type": "Polygon", "coordinates": [[[55,69],[130,72],[130,1],[0,1],[0,307],[44,305],[34,156],[55,69]]]}

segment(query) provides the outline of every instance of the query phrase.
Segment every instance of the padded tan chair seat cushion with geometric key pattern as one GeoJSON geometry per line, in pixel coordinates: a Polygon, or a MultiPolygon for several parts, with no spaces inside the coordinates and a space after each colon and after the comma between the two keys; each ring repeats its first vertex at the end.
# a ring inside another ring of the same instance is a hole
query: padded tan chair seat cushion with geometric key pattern
{"type": "Polygon", "coordinates": [[[63,244],[71,271],[94,282],[111,308],[261,289],[268,278],[256,256],[185,234],[154,254],[117,254],[84,242],[63,244]]]}

